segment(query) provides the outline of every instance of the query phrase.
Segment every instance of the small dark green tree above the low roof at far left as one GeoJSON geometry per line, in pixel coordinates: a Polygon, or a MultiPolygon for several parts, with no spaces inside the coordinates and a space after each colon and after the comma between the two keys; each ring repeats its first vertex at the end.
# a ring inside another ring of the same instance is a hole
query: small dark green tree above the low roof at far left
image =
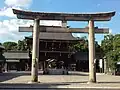
{"type": "Polygon", "coordinates": [[[17,43],[16,42],[4,42],[3,46],[6,50],[17,50],[17,43]]]}

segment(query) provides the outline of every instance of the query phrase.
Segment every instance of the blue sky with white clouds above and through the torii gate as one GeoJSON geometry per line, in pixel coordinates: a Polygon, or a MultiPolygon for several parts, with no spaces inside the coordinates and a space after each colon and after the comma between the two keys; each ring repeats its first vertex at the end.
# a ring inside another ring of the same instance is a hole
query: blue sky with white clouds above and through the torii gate
{"type": "MultiPolygon", "coordinates": [[[[18,32],[19,26],[30,26],[32,20],[17,19],[12,8],[29,11],[45,12],[109,12],[116,11],[111,21],[95,22],[95,26],[109,28],[110,33],[119,34],[120,26],[120,0],[0,0],[0,42],[15,41],[30,36],[31,33],[18,32]]],[[[40,21],[42,25],[60,26],[60,21],[40,21]]],[[[68,22],[68,26],[84,28],[88,22],[68,22]]],[[[105,34],[104,34],[105,35],[105,34]]],[[[104,39],[103,34],[96,34],[95,39],[99,43],[104,39]]],[[[75,37],[88,36],[88,34],[73,34],[75,37]]]]}

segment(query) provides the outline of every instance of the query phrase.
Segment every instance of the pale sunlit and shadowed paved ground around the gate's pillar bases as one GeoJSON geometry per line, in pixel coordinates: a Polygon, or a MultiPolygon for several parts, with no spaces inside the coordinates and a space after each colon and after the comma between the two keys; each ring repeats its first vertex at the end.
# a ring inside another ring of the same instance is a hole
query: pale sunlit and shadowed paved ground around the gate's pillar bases
{"type": "Polygon", "coordinates": [[[30,72],[0,74],[0,88],[81,88],[81,90],[120,90],[120,76],[97,74],[97,83],[88,84],[88,73],[70,72],[70,75],[39,75],[38,84],[28,84],[30,72]],[[90,89],[91,88],[91,89],[90,89]],[[110,89],[111,88],[111,89],[110,89]]]}

